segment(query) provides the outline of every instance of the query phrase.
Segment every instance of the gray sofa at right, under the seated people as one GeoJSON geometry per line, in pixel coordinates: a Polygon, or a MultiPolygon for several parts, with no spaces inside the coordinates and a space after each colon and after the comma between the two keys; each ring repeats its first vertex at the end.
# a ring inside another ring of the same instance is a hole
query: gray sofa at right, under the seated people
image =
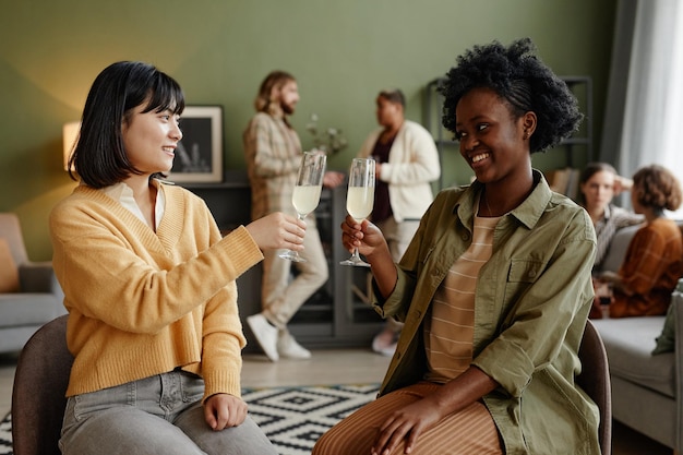
{"type": "MultiPolygon", "coordinates": [[[[616,271],[637,226],[616,232],[604,270],[616,271]]],[[[679,284],[679,289],[683,280],[679,284]]],[[[683,294],[674,291],[669,324],[683,334],[683,294]]],[[[652,355],[667,316],[594,320],[607,350],[615,420],[683,453],[683,336],[652,355]]]]}

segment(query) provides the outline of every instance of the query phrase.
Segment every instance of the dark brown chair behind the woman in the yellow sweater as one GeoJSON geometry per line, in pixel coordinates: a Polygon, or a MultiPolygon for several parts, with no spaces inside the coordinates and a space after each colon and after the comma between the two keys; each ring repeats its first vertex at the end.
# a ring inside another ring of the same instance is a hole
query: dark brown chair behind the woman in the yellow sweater
{"type": "Polygon", "coordinates": [[[73,363],[67,349],[67,318],[38,328],[19,356],[12,391],[14,455],[61,455],[57,442],[73,363]]]}

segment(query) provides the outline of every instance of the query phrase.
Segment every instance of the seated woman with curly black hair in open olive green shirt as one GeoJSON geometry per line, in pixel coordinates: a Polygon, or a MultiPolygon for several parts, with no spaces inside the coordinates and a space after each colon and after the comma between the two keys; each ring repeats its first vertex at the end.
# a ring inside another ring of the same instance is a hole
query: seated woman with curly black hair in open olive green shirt
{"type": "Polygon", "coordinates": [[[598,454],[598,408],[575,382],[595,231],[531,167],[577,128],[576,100],[528,39],[467,51],[442,93],[476,180],[436,196],[398,264],[374,225],[343,224],[374,308],[404,330],[379,398],[313,453],[598,454]]]}

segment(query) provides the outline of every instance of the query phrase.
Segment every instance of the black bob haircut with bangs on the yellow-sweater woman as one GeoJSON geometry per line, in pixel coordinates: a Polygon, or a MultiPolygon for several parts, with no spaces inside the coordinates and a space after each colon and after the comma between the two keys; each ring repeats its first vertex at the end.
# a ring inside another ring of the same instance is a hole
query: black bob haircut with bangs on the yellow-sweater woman
{"type": "MultiPolygon", "coordinates": [[[[105,68],[87,94],[69,169],[73,167],[83,182],[93,188],[109,187],[140,175],[128,159],[121,128],[132,110],[142,105],[143,112],[169,109],[180,115],[185,101],[180,85],[148,63],[120,61],[105,68]]],[[[75,180],[71,170],[69,175],[75,180]]]]}

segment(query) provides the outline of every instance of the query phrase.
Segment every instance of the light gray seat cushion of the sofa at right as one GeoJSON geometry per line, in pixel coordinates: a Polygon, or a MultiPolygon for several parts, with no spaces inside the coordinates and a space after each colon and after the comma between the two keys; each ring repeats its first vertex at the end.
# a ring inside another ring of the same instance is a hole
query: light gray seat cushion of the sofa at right
{"type": "Polygon", "coordinates": [[[620,318],[592,321],[600,333],[613,376],[675,396],[674,352],[652,356],[655,339],[666,316],[620,318]]]}

